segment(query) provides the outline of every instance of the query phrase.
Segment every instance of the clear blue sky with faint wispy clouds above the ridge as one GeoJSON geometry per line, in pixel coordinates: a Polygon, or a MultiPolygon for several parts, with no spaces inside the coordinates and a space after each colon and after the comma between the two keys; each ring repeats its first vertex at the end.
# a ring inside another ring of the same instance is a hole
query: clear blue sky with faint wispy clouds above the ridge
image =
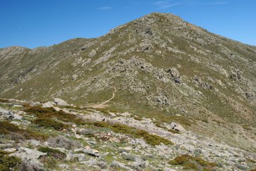
{"type": "Polygon", "coordinates": [[[0,0],[0,48],[94,38],[154,11],[256,45],[256,0],[0,0]]]}

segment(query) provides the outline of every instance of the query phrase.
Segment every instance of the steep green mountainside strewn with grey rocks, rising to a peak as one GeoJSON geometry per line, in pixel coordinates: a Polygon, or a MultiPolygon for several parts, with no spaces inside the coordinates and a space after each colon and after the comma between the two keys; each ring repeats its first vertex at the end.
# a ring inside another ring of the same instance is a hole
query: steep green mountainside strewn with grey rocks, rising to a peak
{"type": "Polygon", "coordinates": [[[256,151],[256,47],[166,13],[96,39],[0,49],[0,97],[104,108],[180,123],[256,151]]]}

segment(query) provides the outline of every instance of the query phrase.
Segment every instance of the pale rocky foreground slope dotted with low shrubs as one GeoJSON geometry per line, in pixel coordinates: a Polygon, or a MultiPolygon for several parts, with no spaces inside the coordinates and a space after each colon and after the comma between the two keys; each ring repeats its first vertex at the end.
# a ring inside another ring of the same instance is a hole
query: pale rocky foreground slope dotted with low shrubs
{"type": "Polygon", "coordinates": [[[0,170],[255,170],[256,154],[129,112],[0,100],[0,170]]]}

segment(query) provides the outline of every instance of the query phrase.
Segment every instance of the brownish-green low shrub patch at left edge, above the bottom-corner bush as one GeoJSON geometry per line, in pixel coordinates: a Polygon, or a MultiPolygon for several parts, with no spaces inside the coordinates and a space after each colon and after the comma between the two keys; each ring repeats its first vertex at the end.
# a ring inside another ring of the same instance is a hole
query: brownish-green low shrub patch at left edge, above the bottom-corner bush
{"type": "Polygon", "coordinates": [[[47,135],[29,129],[20,129],[17,125],[9,123],[8,121],[0,121],[0,134],[8,135],[10,139],[37,139],[45,140],[47,135]]]}

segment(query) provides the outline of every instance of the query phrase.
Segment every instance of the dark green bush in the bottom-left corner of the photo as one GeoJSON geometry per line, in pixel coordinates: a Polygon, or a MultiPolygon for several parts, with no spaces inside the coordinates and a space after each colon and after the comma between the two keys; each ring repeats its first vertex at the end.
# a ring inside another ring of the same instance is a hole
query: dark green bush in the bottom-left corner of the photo
{"type": "Polygon", "coordinates": [[[15,156],[8,156],[9,153],[0,151],[0,170],[20,170],[22,160],[15,156]]]}

